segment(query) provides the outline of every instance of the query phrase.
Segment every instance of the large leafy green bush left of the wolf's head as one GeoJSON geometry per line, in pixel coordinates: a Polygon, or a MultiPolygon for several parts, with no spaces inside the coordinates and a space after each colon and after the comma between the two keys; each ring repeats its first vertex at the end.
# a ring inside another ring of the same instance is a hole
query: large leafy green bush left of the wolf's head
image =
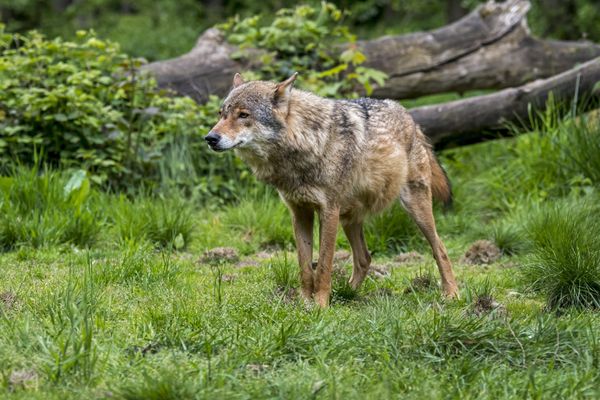
{"type": "Polygon", "coordinates": [[[195,178],[184,183],[231,198],[227,180],[243,167],[232,155],[215,167],[202,140],[215,122],[216,100],[200,107],[169,97],[140,66],[93,33],[65,42],[0,30],[0,166],[14,159],[31,164],[41,149],[48,164],[84,167],[108,187],[156,187],[177,169],[165,166],[174,158],[163,155],[183,144],[183,168],[195,178]]]}

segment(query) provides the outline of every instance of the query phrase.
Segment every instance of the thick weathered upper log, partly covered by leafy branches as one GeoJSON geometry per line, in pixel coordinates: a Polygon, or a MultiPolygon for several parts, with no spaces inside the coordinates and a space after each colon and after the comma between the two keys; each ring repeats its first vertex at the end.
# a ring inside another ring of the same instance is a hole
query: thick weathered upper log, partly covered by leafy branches
{"type": "MultiPolygon", "coordinates": [[[[354,44],[367,56],[367,66],[389,76],[372,97],[405,99],[518,86],[600,56],[598,44],[531,37],[525,20],[529,7],[526,0],[490,1],[434,31],[354,44]]],[[[210,94],[225,95],[235,72],[253,68],[249,61],[233,60],[235,51],[222,32],[209,29],[189,53],[144,69],[161,87],[203,102],[210,94]]]]}

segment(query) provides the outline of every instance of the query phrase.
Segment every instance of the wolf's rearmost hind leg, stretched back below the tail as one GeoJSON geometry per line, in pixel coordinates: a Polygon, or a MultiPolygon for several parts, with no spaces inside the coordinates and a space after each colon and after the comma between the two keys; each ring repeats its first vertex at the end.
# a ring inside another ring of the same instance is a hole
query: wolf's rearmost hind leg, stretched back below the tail
{"type": "Polygon", "coordinates": [[[433,257],[442,276],[442,289],[447,297],[458,297],[458,286],[446,248],[440,240],[433,218],[431,188],[421,180],[412,180],[402,188],[400,199],[431,245],[433,257]]]}

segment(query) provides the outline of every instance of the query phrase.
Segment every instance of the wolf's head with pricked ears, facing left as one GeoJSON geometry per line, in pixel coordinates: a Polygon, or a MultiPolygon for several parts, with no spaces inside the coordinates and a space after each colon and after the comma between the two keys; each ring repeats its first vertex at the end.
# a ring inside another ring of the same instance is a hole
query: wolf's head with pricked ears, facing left
{"type": "Polygon", "coordinates": [[[285,129],[289,98],[297,73],[283,82],[245,82],[233,77],[233,89],[219,110],[221,118],[204,140],[211,149],[252,149],[276,140],[285,129]]]}

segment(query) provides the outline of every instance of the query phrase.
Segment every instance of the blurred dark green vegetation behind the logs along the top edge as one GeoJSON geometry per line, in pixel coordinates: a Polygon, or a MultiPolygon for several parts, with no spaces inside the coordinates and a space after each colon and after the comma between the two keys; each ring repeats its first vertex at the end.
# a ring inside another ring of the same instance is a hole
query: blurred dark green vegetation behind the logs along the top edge
{"type": "MultiPolygon", "coordinates": [[[[333,1],[349,10],[345,23],[361,38],[434,29],[447,24],[482,0],[333,1]]],[[[304,2],[319,5],[319,1],[304,2]]],[[[131,55],[148,60],[188,51],[206,28],[234,15],[294,7],[289,0],[0,0],[0,18],[11,31],[38,29],[71,38],[79,29],[94,29],[131,55]]],[[[556,39],[600,41],[597,0],[533,0],[529,24],[534,34],[556,39]]]]}

